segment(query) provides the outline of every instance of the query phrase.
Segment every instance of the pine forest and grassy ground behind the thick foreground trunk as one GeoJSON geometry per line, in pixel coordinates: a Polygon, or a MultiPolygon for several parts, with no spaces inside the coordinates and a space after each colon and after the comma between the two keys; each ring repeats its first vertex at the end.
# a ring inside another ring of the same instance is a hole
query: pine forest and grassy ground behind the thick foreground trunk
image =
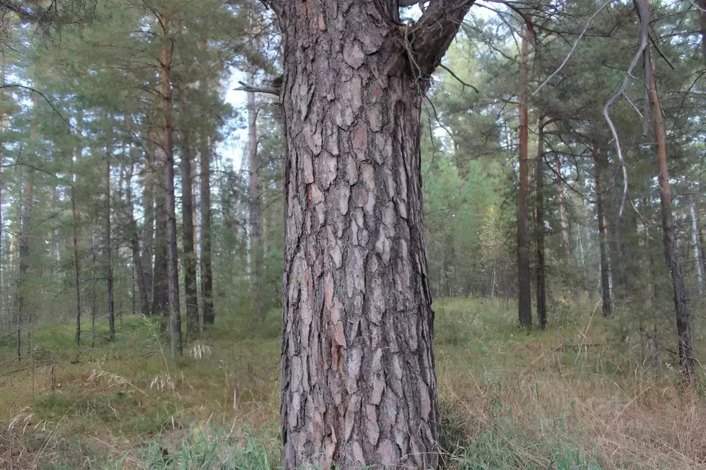
{"type": "MultiPolygon", "coordinates": [[[[0,26],[0,469],[282,467],[274,13],[0,26]]],[[[704,109],[704,0],[472,6],[421,112],[442,468],[706,468],[704,109]]]]}

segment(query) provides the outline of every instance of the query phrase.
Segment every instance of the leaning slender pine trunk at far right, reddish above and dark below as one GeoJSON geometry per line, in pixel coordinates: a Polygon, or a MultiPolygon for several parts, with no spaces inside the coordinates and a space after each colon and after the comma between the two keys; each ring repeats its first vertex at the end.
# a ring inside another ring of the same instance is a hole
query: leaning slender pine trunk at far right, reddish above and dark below
{"type": "MultiPolygon", "coordinates": [[[[650,4],[647,0],[639,0],[640,20],[645,24],[650,22],[650,4]]],[[[671,283],[674,289],[674,308],[676,314],[676,331],[678,335],[678,359],[681,372],[688,386],[694,385],[694,359],[691,350],[690,314],[687,305],[686,286],[681,272],[681,260],[674,230],[674,218],[671,214],[671,187],[669,171],[666,163],[666,137],[662,121],[662,105],[657,94],[657,83],[654,78],[654,63],[648,44],[645,51],[647,63],[647,90],[650,93],[650,106],[654,124],[654,138],[657,142],[657,167],[659,168],[659,202],[662,208],[662,233],[664,235],[664,259],[671,273],[671,283]]]]}

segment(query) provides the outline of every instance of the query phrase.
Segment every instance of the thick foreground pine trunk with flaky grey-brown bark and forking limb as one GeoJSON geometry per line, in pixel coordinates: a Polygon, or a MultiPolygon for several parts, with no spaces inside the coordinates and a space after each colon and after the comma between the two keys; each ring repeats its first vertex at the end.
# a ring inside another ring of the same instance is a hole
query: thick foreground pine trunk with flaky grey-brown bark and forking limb
{"type": "Polygon", "coordinates": [[[409,50],[397,0],[268,3],[285,68],[284,467],[433,468],[420,113],[472,2],[431,2],[409,50]]]}

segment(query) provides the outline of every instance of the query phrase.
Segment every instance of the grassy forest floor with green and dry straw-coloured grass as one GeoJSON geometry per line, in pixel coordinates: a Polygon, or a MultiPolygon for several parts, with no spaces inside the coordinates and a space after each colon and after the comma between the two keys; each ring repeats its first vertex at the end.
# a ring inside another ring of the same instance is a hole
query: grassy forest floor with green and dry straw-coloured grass
{"type": "MultiPolygon", "coordinates": [[[[702,397],[593,307],[523,331],[497,300],[434,304],[445,468],[706,469],[702,397]]],[[[277,468],[280,313],[177,361],[158,329],[126,317],[110,344],[98,323],[78,354],[73,325],[37,326],[20,362],[0,345],[0,469],[277,468]]]]}

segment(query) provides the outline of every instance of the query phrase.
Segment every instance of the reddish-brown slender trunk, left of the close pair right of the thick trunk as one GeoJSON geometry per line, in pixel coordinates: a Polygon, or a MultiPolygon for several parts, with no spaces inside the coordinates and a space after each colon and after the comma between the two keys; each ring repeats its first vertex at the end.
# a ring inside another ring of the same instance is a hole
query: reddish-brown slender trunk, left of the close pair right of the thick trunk
{"type": "Polygon", "coordinates": [[[530,285],[530,236],[527,208],[529,155],[527,153],[527,59],[530,27],[525,27],[520,53],[520,192],[517,197],[517,306],[520,326],[532,326],[532,287],[530,285]]]}

